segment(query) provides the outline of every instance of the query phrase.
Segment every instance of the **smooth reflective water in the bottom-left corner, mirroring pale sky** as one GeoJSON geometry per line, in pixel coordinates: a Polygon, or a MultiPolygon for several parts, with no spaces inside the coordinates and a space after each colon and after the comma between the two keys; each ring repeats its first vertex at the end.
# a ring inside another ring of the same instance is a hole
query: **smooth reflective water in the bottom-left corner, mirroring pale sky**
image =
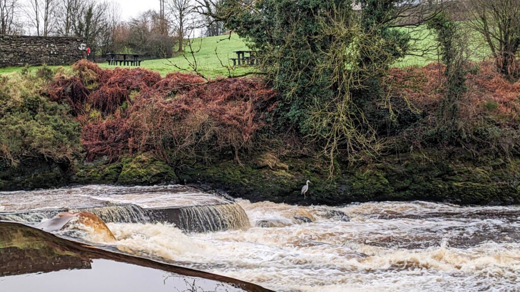
{"type": "Polygon", "coordinates": [[[1,291],[269,292],[260,286],[0,222],[1,291]]]}

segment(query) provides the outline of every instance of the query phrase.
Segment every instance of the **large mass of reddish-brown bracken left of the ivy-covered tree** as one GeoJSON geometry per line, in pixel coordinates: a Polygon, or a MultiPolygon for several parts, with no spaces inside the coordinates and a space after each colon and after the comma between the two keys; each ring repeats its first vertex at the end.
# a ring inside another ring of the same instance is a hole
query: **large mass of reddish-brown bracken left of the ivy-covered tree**
{"type": "Polygon", "coordinates": [[[57,75],[46,92],[74,109],[88,160],[128,151],[166,160],[237,155],[252,147],[263,112],[276,102],[261,79],[206,82],[179,72],[161,78],[140,68],[103,71],[85,61],[74,65],[73,76],[57,75]]]}

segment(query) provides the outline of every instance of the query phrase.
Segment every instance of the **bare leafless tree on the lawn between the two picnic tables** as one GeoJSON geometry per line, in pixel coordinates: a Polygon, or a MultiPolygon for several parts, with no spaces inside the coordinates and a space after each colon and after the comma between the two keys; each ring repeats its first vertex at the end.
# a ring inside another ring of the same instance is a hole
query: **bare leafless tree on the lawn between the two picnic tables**
{"type": "Polygon", "coordinates": [[[167,5],[174,37],[178,43],[177,51],[181,52],[184,50],[184,38],[194,28],[193,6],[190,0],[168,0],[167,5]]]}

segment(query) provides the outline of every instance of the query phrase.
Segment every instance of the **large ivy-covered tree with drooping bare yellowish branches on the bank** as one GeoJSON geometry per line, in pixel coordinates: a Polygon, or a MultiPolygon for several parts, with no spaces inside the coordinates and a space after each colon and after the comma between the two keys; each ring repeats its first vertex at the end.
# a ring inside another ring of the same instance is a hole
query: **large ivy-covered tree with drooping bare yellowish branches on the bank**
{"type": "Polygon", "coordinates": [[[398,0],[225,0],[217,17],[248,41],[280,92],[280,119],[337,153],[374,153],[381,144],[365,103],[412,52],[421,24],[442,5],[398,0]]]}

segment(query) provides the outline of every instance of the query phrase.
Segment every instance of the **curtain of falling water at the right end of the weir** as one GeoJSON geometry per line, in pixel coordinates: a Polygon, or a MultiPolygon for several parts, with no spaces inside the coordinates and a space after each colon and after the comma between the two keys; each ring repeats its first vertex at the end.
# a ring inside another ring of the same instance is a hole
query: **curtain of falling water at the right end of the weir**
{"type": "Polygon", "coordinates": [[[172,222],[187,232],[211,232],[250,228],[248,215],[236,203],[148,209],[156,222],[172,222]]]}

